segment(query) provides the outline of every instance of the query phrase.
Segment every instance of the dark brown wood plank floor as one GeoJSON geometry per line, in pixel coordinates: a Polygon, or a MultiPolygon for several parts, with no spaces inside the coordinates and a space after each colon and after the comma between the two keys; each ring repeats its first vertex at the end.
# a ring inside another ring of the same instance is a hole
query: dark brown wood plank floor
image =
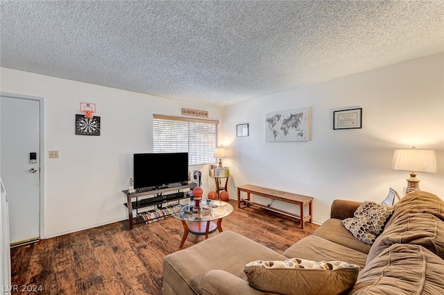
{"type": "MultiPolygon", "coordinates": [[[[258,208],[238,209],[222,221],[233,230],[279,253],[318,228],[258,208]]],[[[217,235],[212,233],[210,237],[217,235]]],[[[127,230],[126,221],[43,239],[11,249],[12,294],[162,294],[162,258],[179,250],[183,228],[168,217],[127,230]]],[[[205,239],[188,235],[184,248],[205,239]]]]}

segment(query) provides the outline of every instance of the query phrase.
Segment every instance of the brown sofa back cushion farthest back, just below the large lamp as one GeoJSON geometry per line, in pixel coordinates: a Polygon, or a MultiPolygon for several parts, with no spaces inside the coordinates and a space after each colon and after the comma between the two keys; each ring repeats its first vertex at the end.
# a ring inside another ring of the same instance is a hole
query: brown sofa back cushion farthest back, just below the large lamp
{"type": "Polygon", "coordinates": [[[395,204],[395,212],[386,226],[407,213],[430,213],[444,221],[444,201],[429,192],[413,191],[395,204]]]}

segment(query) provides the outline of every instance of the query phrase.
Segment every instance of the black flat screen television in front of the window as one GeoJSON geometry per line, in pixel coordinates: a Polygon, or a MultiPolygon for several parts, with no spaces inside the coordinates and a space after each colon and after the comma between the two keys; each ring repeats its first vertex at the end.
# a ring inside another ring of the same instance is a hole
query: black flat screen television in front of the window
{"type": "Polygon", "coordinates": [[[135,153],[133,165],[134,188],[139,192],[188,181],[188,153],[135,153]]]}

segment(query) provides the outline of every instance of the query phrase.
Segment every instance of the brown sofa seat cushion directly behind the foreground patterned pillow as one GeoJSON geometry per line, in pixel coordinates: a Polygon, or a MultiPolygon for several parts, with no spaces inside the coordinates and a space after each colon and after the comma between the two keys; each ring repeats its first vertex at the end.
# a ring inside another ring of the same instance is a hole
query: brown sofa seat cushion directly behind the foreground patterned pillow
{"type": "Polygon", "coordinates": [[[314,261],[339,260],[348,264],[355,264],[361,268],[365,266],[367,258],[366,253],[336,244],[316,235],[309,235],[301,239],[287,248],[284,255],[287,258],[302,258],[314,261]]]}

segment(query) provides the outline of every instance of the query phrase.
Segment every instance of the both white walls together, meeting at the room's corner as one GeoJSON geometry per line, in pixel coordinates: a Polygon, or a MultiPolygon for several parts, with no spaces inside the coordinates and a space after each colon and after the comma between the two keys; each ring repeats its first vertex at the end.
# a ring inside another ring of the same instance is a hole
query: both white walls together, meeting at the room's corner
{"type": "MultiPolygon", "coordinates": [[[[44,97],[44,237],[126,219],[123,206],[133,174],[132,155],[152,151],[152,115],[180,115],[181,108],[221,118],[234,185],[262,185],[314,196],[314,219],[325,221],[334,199],[382,201],[393,187],[402,194],[405,171],[391,169],[394,149],[435,149],[437,174],[418,174],[420,187],[444,197],[444,53],[225,108],[164,99],[0,68],[2,92],[44,97]],[[97,104],[101,136],[74,135],[79,103],[97,104]],[[309,107],[309,142],[265,142],[264,115],[309,107]],[[337,108],[363,108],[363,128],[332,130],[337,108]],[[236,125],[250,124],[249,137],[236,125]],[[60,151],[49,159],[48,151],[60,151]]],[[[204,192],[214,189],[207,165],[204,192]]],[[[236,196],[230,180],[231,196],[236,196]]],[[[267,202],[263,200],[264,202],[267,202]]],[[[273,203],[279,208],[287,204],[273,203]]],[[[290,208],[298,212],[297,208],[290,208]]]]}

